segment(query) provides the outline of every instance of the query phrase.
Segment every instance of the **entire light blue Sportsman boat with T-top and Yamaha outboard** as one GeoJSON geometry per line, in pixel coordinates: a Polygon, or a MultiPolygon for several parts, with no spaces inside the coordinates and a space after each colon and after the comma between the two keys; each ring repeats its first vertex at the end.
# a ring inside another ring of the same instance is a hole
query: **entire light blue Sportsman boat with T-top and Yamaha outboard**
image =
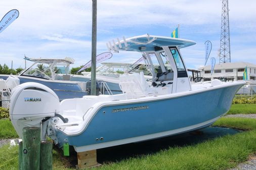
{"type": "Polygon", "coordinates": [[[24,83],[11,95],[12,124],[21,138],[24,127],[42,126],[42,140],[47,135],[59,147],[68,143],[76,152],[208,127],[226,114],[245,82],[191,84],[180,48],[193,44],[150,35],[118,40],[109,48],[141,52],[152,73],[151,85],[143,73],[124,74],[119,77],[122,94],[60,102],[50,88],[24,83]],[[155,63],[160,69],[154,69],[155,63]]]}

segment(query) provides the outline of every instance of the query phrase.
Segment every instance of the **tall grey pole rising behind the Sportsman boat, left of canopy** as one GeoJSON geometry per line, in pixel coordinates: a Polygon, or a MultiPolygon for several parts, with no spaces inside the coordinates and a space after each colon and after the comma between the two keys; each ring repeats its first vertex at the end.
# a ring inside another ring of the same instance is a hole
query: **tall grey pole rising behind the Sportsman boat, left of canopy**
{"type": "Polygon", "coordinates": [[[96,95],[97,0],[93,1],[91,95],[96,95]]]}

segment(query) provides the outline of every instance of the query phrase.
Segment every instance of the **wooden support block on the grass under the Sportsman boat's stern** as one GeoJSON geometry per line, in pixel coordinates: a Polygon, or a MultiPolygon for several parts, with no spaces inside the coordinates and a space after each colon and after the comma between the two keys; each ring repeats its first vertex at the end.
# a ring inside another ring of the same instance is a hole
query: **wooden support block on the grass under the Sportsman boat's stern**
{"type": "Polygon", "coordinates": [[[95,167],[100,166],[97,162],[96,150],[90,150],[85,152],[77,152],[78,165],[77,168],[95,167]]]}

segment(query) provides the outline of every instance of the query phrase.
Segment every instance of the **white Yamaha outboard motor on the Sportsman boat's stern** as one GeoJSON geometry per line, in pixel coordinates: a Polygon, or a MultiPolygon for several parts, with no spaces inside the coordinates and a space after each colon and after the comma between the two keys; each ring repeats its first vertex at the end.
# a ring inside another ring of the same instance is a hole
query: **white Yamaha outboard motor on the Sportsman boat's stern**
{"type": "Polygon", "coordinates": [[[40,127],[41,121],[59,114],[59,97],[49,87],[28,82],[11,94],[10,118],[20,138],[24,127],[40,127]]]}

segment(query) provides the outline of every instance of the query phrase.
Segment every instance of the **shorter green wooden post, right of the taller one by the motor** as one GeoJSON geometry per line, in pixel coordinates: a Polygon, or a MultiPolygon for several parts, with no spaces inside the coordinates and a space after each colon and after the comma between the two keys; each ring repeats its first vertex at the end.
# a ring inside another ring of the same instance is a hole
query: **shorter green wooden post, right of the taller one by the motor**
{"type": "Polygon", "coordinates": [[[50,141],[41,141],[40,146],[40,170],[53,169],[53,143],[50,141]]]}

